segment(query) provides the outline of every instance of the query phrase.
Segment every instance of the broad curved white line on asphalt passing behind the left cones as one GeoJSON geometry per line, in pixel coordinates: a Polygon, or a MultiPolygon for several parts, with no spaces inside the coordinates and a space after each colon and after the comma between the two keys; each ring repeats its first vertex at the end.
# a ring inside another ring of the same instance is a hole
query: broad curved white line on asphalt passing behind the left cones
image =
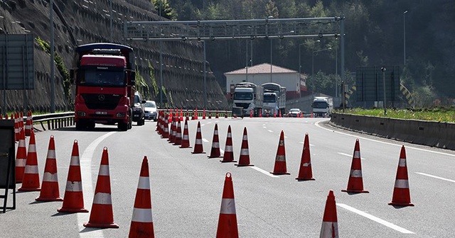
{"type": "MultiPolygon", "coordinates": [[[[93,187],[92,187],[92,158],[93,154],[95,153],[95,149],[97,148],[100,143],[105,140],[109,135],[112,135],[116,132],[109,132],[105,135],[98,137],[94,140],[87,148],[84,150],[82,157],[80,157],[80,176],[82,177],[82,188],[83,188],[83,195],[84,195],[84,207],[87,208],[87,203],[92,204],[93,201],[93,187]]],[[[101,158],[101,152],[100,152],[101,158]]],[[[96,170],[96,169],[95,169],[96,170]]],[[[90,210],[89,212],[77,212],[77,225],[79,227],[79,237],[83,238],[95,238],[99,237],[102,238],[102,230],[101,229],[90,229],[85,228],[83,226],[84,222],[89,222],[90,219],[90,210]],[[88,229],[89,232],[82,232],[83,229],[88,229]]]]}

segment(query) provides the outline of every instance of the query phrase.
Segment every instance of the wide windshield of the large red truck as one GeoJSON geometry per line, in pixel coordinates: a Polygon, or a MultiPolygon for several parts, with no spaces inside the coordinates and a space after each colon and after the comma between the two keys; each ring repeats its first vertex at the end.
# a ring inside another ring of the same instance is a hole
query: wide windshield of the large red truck
{"type": "Polygon", "coordinates": [[[85,70],[81,75],[80,85],[84,86],[125,86],[125,74],[123,71],[85,70]]]}

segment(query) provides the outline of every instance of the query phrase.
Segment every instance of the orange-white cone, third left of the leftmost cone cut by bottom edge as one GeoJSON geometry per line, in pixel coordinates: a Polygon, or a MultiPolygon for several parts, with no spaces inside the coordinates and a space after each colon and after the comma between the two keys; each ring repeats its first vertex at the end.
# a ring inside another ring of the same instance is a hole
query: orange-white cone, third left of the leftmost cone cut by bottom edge
{"type": "Polygon", "coordinates": [[[45,159],[43,183],[41,183],[41,192],[37,201],[63,201],[60,198],[60,189],[58,188],[57,160],[55,158],[54,136],[50,136],[48,155],[45,159]]]}

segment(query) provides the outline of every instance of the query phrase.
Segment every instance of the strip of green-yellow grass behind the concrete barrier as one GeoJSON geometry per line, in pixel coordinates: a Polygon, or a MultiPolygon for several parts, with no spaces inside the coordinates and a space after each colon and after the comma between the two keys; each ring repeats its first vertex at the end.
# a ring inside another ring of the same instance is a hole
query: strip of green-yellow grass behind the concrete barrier
{"type": "MultiPolygon", "coordinates": [[[[337,111],[342,113],[342,111],[337,111]]],[[[384,109],[363,109],[353,108],[345,109],[344,113],[356,115],[373,115],[386,118],[412,119],[412,120],[432,120],[441,123],[455,123],[455,106],[419,108],[419,109],[387,109],[387,115],[384,115],[384,109]]]]}

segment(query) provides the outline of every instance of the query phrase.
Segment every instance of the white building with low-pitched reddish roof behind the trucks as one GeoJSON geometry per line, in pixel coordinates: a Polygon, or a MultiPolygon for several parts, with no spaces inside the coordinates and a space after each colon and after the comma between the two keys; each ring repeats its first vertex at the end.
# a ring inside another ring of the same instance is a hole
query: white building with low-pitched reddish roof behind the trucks
{"type": "Polygon", "coordinates": [[[226,93],[229,95],[234,92],[234,86],[240,82],[252,82],[253,84],[275,83],[286,87],[287,99],[298,98],[300,91],[306,91],[306,75],[292,69],[278,67],[272,64],[257,64],[252,67],[237,69],[225,73],[226,93]]]}

